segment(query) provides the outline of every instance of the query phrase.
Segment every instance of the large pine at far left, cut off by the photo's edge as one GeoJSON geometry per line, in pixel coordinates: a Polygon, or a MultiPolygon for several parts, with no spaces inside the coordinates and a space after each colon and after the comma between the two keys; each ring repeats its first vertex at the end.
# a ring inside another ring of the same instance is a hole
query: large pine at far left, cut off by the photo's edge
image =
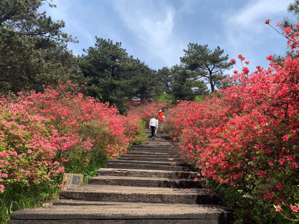
{"type": "Polygon", "coordinates": [[[43,4],[45,0],[7,0],[0,4],[0,88],[18,91],[63,80],[76,63],[66,47],[76,42],[61,31],[63,21],[53,22],[43,4]]]}

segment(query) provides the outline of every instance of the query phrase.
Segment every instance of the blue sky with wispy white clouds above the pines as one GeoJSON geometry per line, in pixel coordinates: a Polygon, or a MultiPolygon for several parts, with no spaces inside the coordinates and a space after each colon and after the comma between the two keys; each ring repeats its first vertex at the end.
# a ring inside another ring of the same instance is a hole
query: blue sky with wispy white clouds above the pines
{"type": "MultiPolygon", "coordinates": [[[[63,31],[77,36],[68,48],[81,55],[95,36],[121,42],[129,55],[158,70],[180,63],[189,42],[217,46],[237,59],[242,54],[251,71],[268,67],[266,56],[286,51],[286,39],[272,26],[284,17],[293,0],[53,0],[42,6],[63,31]]],[[[237,60],[237,65],[241,65],[237,60]]],[[[234,67],[232,70],[238,70],[234,67]]],[[[232,73],[228,71],[227,73],[232,73]]]]}

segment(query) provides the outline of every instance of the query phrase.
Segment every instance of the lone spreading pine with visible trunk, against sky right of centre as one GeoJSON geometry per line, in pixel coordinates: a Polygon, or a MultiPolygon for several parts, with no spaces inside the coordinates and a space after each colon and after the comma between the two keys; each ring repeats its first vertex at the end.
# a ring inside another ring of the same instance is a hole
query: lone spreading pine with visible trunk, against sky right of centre
{"type": "Polygon", "coordinates": [[[227,62],[228,55],[222,56],[224,50],[218,46],[213,52],[208,45],[189,43],[185,55],[181,57],[181,65],[193,73],[193,80],[205,80],[210,84],[211,91],[221,85],[223,72],[231,69],[232,64],[227,62]]]}

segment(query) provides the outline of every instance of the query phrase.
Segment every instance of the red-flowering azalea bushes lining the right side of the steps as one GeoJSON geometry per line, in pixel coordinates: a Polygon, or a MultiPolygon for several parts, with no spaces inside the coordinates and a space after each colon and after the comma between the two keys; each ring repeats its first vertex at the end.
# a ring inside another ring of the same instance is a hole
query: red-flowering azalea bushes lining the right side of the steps
{"type": "MultiPolygon", "coordinates": [[[[298,54],[298,33],[289,27],[284,33],[298,54]]],[[[226,200],[238,192],[230,202],[243,212],[239,222],[298,221],[299,59],[273,62],[270,55],[269,67],[253,73],[238,59],[242,67],[223,80],[231,87],[205,102],[180,102],[164,128],[203,183],[218,187],[226,200]]]]}

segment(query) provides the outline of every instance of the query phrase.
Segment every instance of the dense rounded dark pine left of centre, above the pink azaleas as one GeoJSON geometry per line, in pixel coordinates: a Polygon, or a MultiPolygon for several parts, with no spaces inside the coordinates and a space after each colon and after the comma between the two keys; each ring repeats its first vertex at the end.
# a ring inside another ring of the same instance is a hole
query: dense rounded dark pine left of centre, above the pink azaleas
{"type": "Polygon", "coordinates": [[[82,56],[80,69],[90,86],[89,94],[119,107],[130,92],[132,72],[138,69],[135,59],[128,56],[121,43],[97,37],[95,46],[84,52],[87,55],[82,56]]]}

